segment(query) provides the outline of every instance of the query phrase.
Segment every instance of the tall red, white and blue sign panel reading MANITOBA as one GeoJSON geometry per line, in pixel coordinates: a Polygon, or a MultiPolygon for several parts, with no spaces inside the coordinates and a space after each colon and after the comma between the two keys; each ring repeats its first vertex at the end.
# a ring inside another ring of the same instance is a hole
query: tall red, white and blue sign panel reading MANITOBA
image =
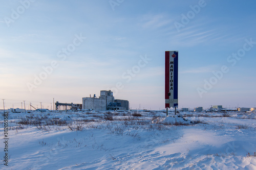
{"type": "Polygon", "coordinates": [[[165,108],[178,106],[178,51],[165,52],[165,108]]]}

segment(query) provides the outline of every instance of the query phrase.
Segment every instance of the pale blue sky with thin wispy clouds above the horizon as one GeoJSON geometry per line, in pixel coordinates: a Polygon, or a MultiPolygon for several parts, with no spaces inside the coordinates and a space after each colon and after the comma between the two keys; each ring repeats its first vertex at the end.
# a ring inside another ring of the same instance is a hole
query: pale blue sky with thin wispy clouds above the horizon
{"type": "Polygon", "coordinates": [[[0,98],[6,108],[50,108],[53,98],[82,103],[112,90],[132,109],[165,109],[164,54],[179,51],[179,108],[255,107],[255,6],[1,1],[0,98]]]}

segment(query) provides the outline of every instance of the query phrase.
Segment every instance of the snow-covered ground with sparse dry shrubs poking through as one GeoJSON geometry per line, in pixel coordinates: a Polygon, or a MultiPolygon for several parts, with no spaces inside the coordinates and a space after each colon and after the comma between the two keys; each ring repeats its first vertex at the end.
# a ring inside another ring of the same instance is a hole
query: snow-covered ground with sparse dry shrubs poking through
{"type": "Polygon", "coordinates": [[[0,169],[256,169],[256,113],[1,114],[0,169]]]}

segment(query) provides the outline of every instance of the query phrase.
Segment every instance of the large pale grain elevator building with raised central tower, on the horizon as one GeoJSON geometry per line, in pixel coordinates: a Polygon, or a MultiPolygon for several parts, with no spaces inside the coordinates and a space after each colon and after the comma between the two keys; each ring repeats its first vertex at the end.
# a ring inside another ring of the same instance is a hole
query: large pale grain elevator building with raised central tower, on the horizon
{"type": "Polygon", "coordinates": [[[99,98],[93,97],[82,98],[82,109],[83,110],[95,110],[95,111],[106,111],[106,110],[129,110],[129,101],[116,99],[113,96],[111,90],[101,90],[99,98]]]}

